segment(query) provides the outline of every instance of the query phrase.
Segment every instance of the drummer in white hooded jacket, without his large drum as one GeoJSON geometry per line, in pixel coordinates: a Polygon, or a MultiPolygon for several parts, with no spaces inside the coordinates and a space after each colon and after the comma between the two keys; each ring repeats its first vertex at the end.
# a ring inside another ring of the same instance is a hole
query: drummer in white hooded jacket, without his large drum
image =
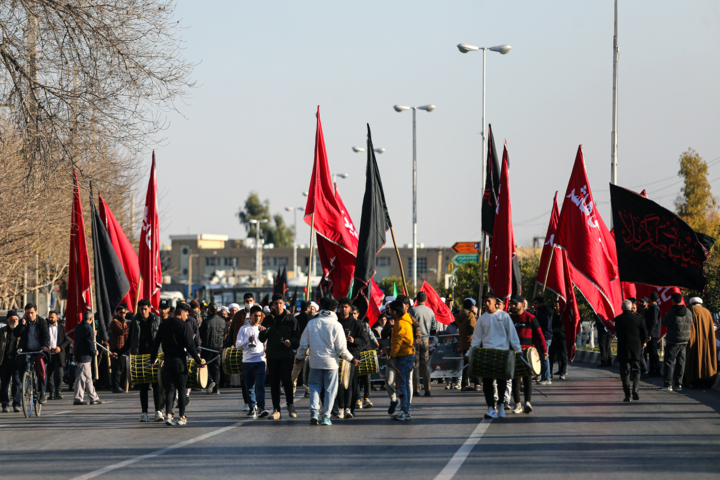
{"type": "MultiPolygon", "coordinates": [[[[512,347],[516,353],[522,353],[520,347],[520,339],[517,336],[515,325],[507,312],[498,310],[495,297],[486,295],[483,297],[483,305],[486,311],[480,316],[475,323],[475,331],[473,332],[470,348],[483,347],[493,348],[497,350],[508,350],[512,347]]],[[[511,353],[512,355],[512,353],[511,353]]],[[[495,389],[493,388],[494,378],[483,378],[483,392],[485,393],[485,403],[488,406],[488,412],[485,418],[501,418],[505,417],[505,406],[501,403],[495,410],[495,389]]],[[[505,380],[498,380],[497,395],[505,401],[505,380]]]]}

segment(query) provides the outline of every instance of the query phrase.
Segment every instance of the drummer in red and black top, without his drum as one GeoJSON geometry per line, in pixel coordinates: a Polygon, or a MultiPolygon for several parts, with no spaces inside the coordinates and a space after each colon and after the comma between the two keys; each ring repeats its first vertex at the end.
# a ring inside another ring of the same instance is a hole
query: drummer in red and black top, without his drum
{"type": "MultiPolygon", "coordinates": [[[[510,318],[515,324],[522,349],[527,350],[530,347],[535,347],[540,355],[540,359],[544,361],[544,359],[548,358],[545,336],[542,333],[542,328],[537,318],[525,310],[525,299],[520,295],[513,295],[510,298],[508,307],[510,310],[510,318]]],[[[522,377],[522,381],[525,394],[525,408],[523,408],[520,403],[520,379],[513,378],[513,400],[515,401],[513,413],[532,412],[532,405],[530,404],[530,400],[532,400],[532,378],[530,376],[522,377]]]]}

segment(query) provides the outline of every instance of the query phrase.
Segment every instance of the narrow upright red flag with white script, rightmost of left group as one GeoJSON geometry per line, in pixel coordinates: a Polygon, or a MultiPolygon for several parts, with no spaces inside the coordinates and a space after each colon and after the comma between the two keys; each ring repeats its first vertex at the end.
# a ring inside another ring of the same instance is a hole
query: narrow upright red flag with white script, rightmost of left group
{"type": "Polygon", "coordinates": [[[160,228],[158,222],[157,181],[155,179],[155,152],[150,170],[150,182],[145,196],[145,215],[140,230],[140,298],[150,300],[150,305],[158,313],[160,290],[162,289],[162,266],[160,265],[160,228]]]}

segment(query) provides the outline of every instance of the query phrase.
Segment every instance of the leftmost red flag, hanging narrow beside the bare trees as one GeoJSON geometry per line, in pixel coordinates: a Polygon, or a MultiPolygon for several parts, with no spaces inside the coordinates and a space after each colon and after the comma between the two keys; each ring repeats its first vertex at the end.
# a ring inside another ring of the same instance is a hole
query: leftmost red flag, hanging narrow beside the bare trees
{"type": "MultiPolygon", "coordinates": [[[[90,257],[85,238],[85,220],[80,202],[80,186],[73,169],[73,210],[70,221],[70,261],[68,263],[68,293],[65,308],[65,330],[68,334],[82,322],[83,312],[92,310],[90,299],[90,257]]],[[[75,338],[74,334],[72,338],[75,338]]]]}

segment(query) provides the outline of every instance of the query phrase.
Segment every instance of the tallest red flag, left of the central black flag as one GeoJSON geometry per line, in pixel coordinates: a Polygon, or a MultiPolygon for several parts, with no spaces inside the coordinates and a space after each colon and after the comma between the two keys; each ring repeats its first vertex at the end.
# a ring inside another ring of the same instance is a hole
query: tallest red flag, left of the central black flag
{"type": "Polygon", "coordinates": [[[315,163],[305,205],[305,223],[315,226],[323,275],[333,297],[347,296],[355,273],[358,233],[340,195],[333,189],[320,122],[320,107],[317,112],[315,163]]]}

